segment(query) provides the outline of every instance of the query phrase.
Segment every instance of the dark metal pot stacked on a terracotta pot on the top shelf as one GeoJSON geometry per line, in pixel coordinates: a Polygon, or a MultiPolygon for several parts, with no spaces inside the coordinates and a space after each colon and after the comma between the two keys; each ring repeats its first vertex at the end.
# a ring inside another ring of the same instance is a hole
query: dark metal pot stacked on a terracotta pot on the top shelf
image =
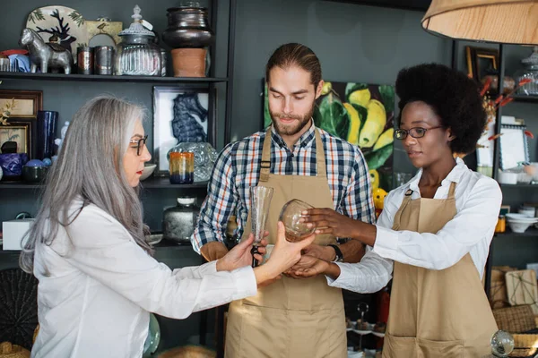
{"type": "Polygon", "coordinates": [[[174,77],[205,77],[206,47],[213,42],[207,9],[198,2],[187,2],[167,11],[169,27],[162,33],[162,40],[174,48],[174,77]]]}

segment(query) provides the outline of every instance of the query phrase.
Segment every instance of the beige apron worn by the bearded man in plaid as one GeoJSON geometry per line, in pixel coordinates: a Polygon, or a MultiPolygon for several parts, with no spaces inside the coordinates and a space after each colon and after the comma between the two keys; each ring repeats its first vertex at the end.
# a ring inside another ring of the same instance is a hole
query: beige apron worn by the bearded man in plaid
{"type": "MultiPolygon", "coordinates": [[[[271,128],[262,153],[259,185],[274,188],[267,221],[269,243],[275,243],[282,206],[292,199],[317,208],[333,208],[325,154],[316,130],[317,176],[273,175],[271,128]]],[[[243,238],[250,234],[250,214],[243,238]]],[[[315,243],[334,243],[334,236],[317,235],[315,243]]],[[[325,276],[307,279],[282,277],[258,294],[230,303],[226,328],[227,358],[317,358],[347,356],[342,291],[327,286],[325,276]]]]}

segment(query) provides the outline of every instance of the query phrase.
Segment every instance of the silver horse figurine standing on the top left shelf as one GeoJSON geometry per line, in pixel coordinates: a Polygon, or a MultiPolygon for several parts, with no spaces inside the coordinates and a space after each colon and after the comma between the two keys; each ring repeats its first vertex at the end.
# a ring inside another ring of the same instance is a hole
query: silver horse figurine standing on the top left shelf
{"type": "Polygon", "coordinates": [[[30,52],[30,72],[36,72],[39,65],[43,73],[47,73],[49,68],[63,69],[65,74],[71,73],[73,55],[69,50],[54,43],[45,43],[43,38],[31,29],[22,30],[20,42],[30,52]]]}

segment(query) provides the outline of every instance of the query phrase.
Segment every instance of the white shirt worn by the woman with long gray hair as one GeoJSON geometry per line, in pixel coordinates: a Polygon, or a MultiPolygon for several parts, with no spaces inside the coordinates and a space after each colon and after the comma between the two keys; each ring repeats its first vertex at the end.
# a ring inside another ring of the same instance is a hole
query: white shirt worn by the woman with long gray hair
{"type": "MultiPolygon", "coordinates": [[[[71,208],[80,208],[75,201],[71,208]]],[[[31,356],[142,357],[149,312],[185,319],[256,294],[250,267],[216,272],[216,261],[172,271],[134,243],[126,228],[94,205],[67,232],[38,244],[39,335],[31,356]]]]}

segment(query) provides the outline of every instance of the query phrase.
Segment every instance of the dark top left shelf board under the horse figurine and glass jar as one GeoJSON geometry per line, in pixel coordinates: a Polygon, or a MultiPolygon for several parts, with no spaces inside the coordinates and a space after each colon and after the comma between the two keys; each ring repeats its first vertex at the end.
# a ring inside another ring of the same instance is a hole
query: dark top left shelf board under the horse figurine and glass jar
{"type": "Polygon", "coordinates": [[[64,74],[0,72],[0,80],[44,80],[44,81],[93,81],[93,82],[162,82],[174,83],[210,83],[226,82],[227,78],[208,77],[157,77],[157,76],[111,76],[100,74],[64,74]]]}

